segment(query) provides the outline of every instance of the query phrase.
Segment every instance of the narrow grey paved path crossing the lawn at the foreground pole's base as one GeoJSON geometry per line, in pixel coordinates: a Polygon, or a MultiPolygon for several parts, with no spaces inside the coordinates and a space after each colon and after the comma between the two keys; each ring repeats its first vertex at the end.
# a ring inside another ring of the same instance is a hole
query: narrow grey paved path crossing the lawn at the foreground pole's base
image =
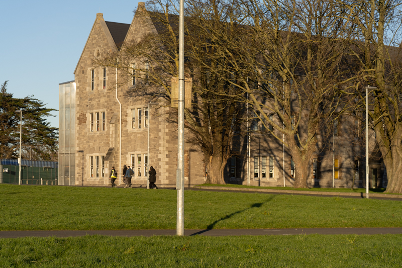
{"type": "MultiPolygon", "coordinates": [[[[64,230],[64,231],[0,231],[0,238],[74,237],[84,235],[153,236],[175,235],[176,230],[64,230]]],[[[297,228],[297,229],[205,229],[184,230],[184,235],[298,235],[298,234],[402,234],[402,228],[297,228]]]]}

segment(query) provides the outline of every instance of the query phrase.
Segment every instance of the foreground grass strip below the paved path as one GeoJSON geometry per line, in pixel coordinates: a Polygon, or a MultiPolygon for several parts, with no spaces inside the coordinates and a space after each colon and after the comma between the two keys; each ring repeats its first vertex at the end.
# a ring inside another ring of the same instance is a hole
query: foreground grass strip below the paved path
{"type": "Polygon", "coordinates": [[[402,235],[0,239],[1,267],[400,267],[402,235]]]}

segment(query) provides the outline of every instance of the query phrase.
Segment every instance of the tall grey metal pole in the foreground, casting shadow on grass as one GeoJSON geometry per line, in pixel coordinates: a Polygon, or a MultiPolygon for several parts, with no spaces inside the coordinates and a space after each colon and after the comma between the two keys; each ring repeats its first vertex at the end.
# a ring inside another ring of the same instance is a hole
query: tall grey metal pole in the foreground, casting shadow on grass
{"type": "Polygon", "coordinates": [[[184,0],[179,10],[179,98],[177,131],[177,223],[176,234],[184,235],[184,0]]]}

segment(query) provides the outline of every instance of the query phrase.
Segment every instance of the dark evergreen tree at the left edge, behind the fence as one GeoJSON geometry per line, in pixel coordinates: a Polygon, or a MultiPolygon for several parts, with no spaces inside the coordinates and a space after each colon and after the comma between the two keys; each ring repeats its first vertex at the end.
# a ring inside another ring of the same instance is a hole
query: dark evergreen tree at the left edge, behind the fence
{"type": "Polygon", "coordinates": [[[58,158],[58,128],[50,126],[46,117],[55,109],[47,109],[33,96],[24,99],[13,98],[7,92],[7,82],[0,92],[0,158],[17,158],[20,149],[20,115],[22,110],[22,158],[28,158],[32,148],[33,160],[58,158]]]}

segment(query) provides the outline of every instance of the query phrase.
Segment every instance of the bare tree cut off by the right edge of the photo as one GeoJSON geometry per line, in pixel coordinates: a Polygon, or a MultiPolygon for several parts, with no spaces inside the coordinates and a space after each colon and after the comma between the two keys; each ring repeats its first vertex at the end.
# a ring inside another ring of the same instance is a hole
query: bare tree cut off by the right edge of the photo
{"type": "Polygon", "coordinates": [[[351,14],[354,39],[350,51],[360,72],[355,94],[365,104],[365,87],[369,91],[369,117],[387,172],[387,193],[402,193],[402,68],[401,6],[396,0],[352,0],[342,2],[351,14]],[[396,45],[391,47],[389,45],[396,45]]]}

